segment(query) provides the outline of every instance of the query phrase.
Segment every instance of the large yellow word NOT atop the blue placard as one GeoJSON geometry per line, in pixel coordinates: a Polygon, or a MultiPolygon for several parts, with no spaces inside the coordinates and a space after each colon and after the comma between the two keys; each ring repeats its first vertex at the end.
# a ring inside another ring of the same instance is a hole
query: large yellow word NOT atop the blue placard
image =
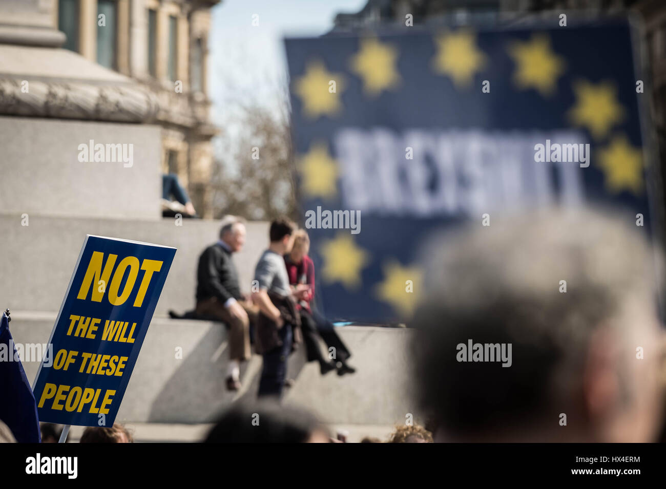
{"type": "Polygon", "coordinates": [[[112,305],[121,305],[125,303],[127,298],[131,295],[137,281],[137,276],[139,275],[139,268],[141,268],[145,273],[143,274],[141,285],[139,285],[137,298],[134,300],[133,304],[134,307],[141,307],[143,299],[146,297],[148,286],[153,278],[153,273],[162,269],[163,262],[155,259],[144,259],[141,263],[141,267],[139,267],[139,259],[137,257],[127,256],[118,263],[118,266],[114,270],[113,267],[116,264],[117,258],[118,255],[110,253],[105,262],[104,253],[101,251],[93,251],[85,276],[83,277],[83,282],[81,282],[81,288],[79,289],[77,299],[86,300],[88,298],[88,293],[91,290],[91,285],[93,285],[91,301],[101,302],[105,293],[108,291],[109,302],[112,305]],[[125,288],[121,292],[119,289],[121,287],[121,282],[123,281],[123,275],[125,275],[125,271],[127,271],[128,268],[129,275],[125,282],[125,288]],[[112,271],[113,277],[111,277],[112,271]],[[109,279],[111,279],[111,282],[109,282],[109,279]],[[97,287],[100,281],[102,281],[105,286],[97,287]],[[107,283],[109,284],[109,287],[106,287],[107,283]]]}

